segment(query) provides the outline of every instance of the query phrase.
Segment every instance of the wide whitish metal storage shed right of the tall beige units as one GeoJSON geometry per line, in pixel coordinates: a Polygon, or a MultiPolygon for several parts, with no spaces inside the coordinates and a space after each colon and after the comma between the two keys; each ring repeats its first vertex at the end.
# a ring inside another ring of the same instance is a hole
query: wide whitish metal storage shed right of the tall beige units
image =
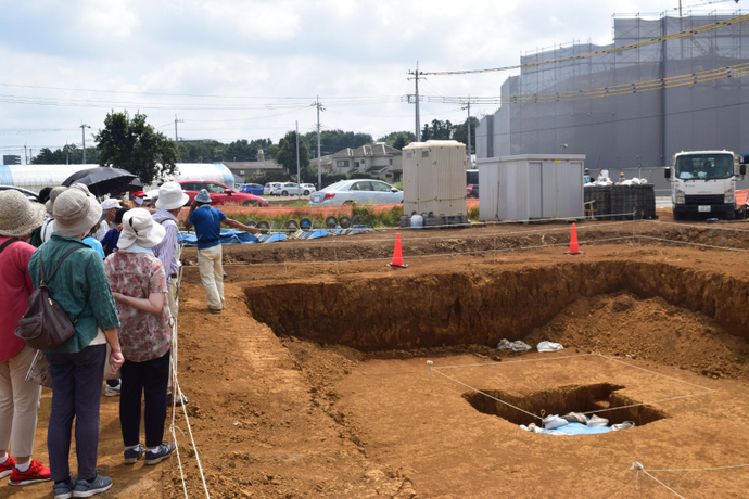
{"type": "Polygon", "coordinates": [[[584,218],[584,154],[522,154],[477,164],[482,221],[584,218]]]}

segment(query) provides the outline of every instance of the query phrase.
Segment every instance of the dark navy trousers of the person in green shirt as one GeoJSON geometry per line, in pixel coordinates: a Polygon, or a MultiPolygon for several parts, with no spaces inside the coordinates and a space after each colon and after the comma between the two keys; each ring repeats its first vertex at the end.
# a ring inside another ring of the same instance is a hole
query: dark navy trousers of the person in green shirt
{"type": "Polygon", "coordinates": [[[53,481],[71,476],[71,431],[75,418],[78,478],[92,478],[99,447],[99,407],[104,381],[106,345],[94,345],[77,354],[47,354],[52,374],[52,413],[47,450],[53,481]]]}

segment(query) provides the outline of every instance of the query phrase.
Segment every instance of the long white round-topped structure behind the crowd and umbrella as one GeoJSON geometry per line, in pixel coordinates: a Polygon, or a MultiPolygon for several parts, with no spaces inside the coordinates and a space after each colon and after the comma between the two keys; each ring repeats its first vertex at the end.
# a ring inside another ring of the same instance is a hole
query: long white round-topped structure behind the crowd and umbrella
{"type": "MultiPolygon", "coordinates": [[[[46,187],[62,185],[67,177],[99,165],[0,165],[0,185],[15,185],[39,192],[46,187]]],[[[215,180],[230,188],[234,176],[220,163],[177,163],[175,180],[215,180]]],[[[154,183],[148,189],[157,189],[154,183]]]]}

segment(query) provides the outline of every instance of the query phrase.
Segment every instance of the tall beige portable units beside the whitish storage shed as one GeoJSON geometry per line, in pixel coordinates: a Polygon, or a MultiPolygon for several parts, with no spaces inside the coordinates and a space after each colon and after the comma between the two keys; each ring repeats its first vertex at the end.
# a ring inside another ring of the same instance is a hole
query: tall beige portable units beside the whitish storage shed
{"type": "Polygon", "coordinates": [[[411,142],[403,149],[402,226],[412,214],[424,226],[466,223],[466,145],[455,140],[411,142]]]}

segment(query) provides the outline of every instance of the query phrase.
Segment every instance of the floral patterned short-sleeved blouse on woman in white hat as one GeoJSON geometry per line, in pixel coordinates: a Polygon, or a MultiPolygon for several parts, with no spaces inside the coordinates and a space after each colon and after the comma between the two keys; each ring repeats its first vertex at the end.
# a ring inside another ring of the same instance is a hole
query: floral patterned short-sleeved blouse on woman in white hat
{"type": "MultiPolygon", "coordinates": [[[[167,292],[164,266],[155,256],[120,251],[106,257],[104,268],[113,292],[145,299],[151,293],[167,292]]],[[[117,314],[120,324],[117,336],[125,359],[144,362],[162,357],[169,350],[172,327],[166,299],[158,314],[117,302],[117,314]]]]}

